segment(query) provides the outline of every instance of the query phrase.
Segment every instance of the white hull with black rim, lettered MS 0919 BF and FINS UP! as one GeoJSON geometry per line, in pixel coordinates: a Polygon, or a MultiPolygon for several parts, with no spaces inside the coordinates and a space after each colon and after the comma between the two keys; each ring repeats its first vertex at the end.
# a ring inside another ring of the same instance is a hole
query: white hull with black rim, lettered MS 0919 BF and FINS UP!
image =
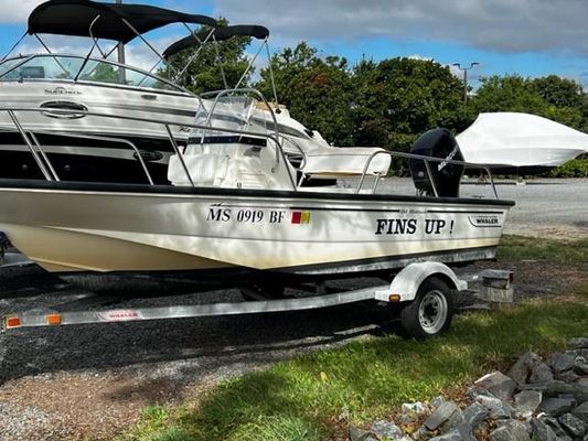
{"type": "Polygon", "coordinates": [[[0,230],[50,271],[384,270],[492,258],[507,202],[0,182],[0,230]],[[7,186],[8,185],[8,186],[7,186]]]}

